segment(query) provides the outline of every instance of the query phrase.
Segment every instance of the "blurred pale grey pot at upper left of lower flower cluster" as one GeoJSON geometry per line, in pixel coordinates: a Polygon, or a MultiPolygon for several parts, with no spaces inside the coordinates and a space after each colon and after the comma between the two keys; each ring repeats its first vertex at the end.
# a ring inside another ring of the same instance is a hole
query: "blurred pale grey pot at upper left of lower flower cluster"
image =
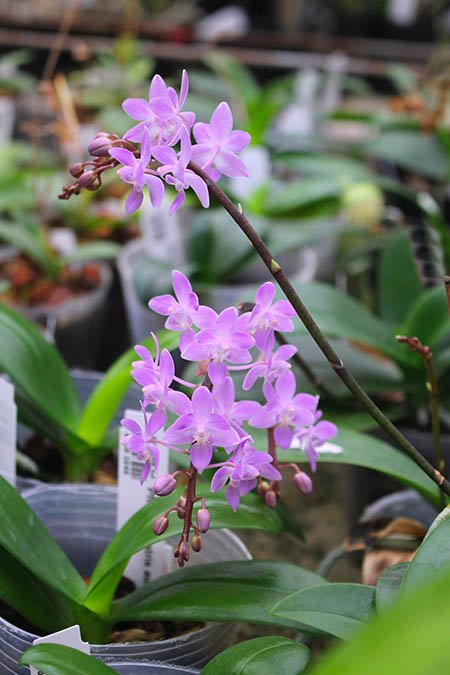
{"type": "Polygon", "coordinates": [[[137,344],[143,338],[148,337],[152,331],[161,330],[165,322],[164,317],[151,312],[141,302],[134,286],[134,264],[136,260],[142,257],[144,251],[142,240],[136,239],[122,248],[117,259],[128,330],[133,344],[137,344]]]}

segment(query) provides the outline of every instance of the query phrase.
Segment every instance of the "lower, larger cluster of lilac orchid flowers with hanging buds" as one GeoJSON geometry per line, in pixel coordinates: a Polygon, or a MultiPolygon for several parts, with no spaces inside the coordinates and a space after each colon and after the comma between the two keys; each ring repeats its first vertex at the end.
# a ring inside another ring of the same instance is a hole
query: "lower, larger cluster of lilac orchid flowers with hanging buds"
{"type": "MultiPolygon", "coordinates": [[[[337,430],[321,420],[318,396],[296,393],[290,363],[296,348],[289,344],[275,348],[276,333],[293,330],[294,310],[286,300],[275,300],[271,282],[258,289],[249,311],[228,307],[218,314],[200,305],[190,281],[181,272],[174,271],[172,279],[174,295],[155,297],[149,307],[167,317],[167,329],[180,333],[181,357],[198,362],[203,379],[194,383],[177,377],[166,349],[160,352],[157,347],[153,358],[146,348],[136,347],[140,358],[133,363],[132,376],[142,387],[144,425],[141,428],[127,419],[122,424],[129,432],[123,442],[144,462],[142,481],[152,467],[157,468],[161,446],[189,457],[189,470],[162,476],[153,487],[163,496],[175,489],[180,474],[188,479],[186,496],[154,524],[156,533],[164,532],[171,510],[189,520],[176,551],[183,564],[189,557],[190,528],[194,529],[197,550],[201,546],[199,533],[209,527],[205,499],[195,496],[198,474],[206,469],[214,471],[210,489],[217,492],[226,486],[226,499],[233,510],[254,488],[268,506],[274,507],[280,494],[283,450],[299,447],[315,471],[321,447],[337,430]],[[245,374],[244,391],[256,392],[257,383],[261,384],[259,396],[255,396],[258,401],[236,400],[239,397],[233,375],[237,373],[245,374]],[[192,394],[188,396],[180,387],[192,394]],[[170,424],[169,414],[171,420],[175,416],[170,424]],[[266,430],[267,449],[256,447],[252,428],[266,430]],[[195,501],[201,501],[202,508],[197,511],[194,526],[191,517],[195,501]]],[[[311,492],[311,478],[297,465],[289,466],[294,469],[298,489],[305,494],[311,492]]]]}

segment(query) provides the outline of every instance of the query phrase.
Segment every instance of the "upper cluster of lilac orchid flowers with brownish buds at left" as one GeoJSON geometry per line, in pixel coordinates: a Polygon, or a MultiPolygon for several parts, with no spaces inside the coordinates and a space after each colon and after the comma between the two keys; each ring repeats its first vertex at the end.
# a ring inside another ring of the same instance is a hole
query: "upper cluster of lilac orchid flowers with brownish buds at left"
{"type": "Polygon", "coordinates": [[[250,135],[233,130],[233,115],[225,102],[217,106],[208,124],[195,124],[195,114],[182,111],[188,87],[185,70],[179,95],[160,75],[155,75],[148,100],[126,99],[123,109],[138,123],[123,138],[104,132],[98,134],[88,148],[94,160],[72,165],[70,172],[78,180],[64,188],[60,197],[67,199],[78,194],[81,188],[96,190],[103,171],[120,166],[119,178],[133,186],[125,203],[128,214],[141,206],[144,190],[148,191],[152,205],[160,206],[165,184],[177,192],[169,208],[171,214],[182,205],[189,188],[202,206],[209,206],[208,187],[203,178],[189,168],[191,161],[215,181],[222,175],[247,176],[245,165],[236,153],[247,147],[250,135]]]}

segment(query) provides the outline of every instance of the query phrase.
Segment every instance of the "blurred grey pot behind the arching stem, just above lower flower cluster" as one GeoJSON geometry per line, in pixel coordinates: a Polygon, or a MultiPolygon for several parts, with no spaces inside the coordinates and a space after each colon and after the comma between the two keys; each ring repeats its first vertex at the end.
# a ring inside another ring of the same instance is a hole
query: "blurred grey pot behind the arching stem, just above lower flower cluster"
{"type": "MultiPolygon", "coordinates": [[[[319,266],[319,256],[316,250],[310,247],[296,249],[278,257],[279,264],[292,281],[312,281],[319,266]]],[[[235,283],[208,286],[200,293],[201,301],[210,305],[216,312],[225,307],[235,305],[236,302],[248,295],[248,287],[269,281],[271,275],[262,261],[252,265],[248,270],[237,275],[235,283]]]]}

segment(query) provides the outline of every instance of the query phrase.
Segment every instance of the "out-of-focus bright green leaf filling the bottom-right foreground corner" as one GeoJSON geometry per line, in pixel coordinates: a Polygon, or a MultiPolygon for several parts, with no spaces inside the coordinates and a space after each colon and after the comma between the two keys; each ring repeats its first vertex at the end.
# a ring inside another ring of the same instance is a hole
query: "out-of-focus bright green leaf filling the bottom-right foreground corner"
{"type": "Polygon", "coordinates": [[[450,571],[430,577],[310,675],[448,675],[450,571]]]}

